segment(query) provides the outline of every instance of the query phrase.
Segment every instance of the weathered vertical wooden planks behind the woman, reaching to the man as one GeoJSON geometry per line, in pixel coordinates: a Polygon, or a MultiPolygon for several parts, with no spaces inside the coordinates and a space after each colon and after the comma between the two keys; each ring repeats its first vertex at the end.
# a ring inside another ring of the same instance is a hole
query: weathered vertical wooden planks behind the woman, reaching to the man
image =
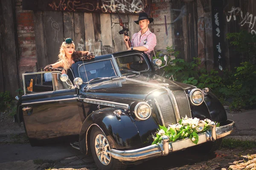
{"type": "MultiPolygon", "coordinates": [[[[140,31],[134,23],[138,16],[120,16],[130,27],[131,36],[140,31]]],[[[34,11],[34,20],[38,67],[58,60],[59,48],[67,37],[74,40],[77,51],[90,51],[96,56],[126,50],[117,14],[34,11]]]]}

